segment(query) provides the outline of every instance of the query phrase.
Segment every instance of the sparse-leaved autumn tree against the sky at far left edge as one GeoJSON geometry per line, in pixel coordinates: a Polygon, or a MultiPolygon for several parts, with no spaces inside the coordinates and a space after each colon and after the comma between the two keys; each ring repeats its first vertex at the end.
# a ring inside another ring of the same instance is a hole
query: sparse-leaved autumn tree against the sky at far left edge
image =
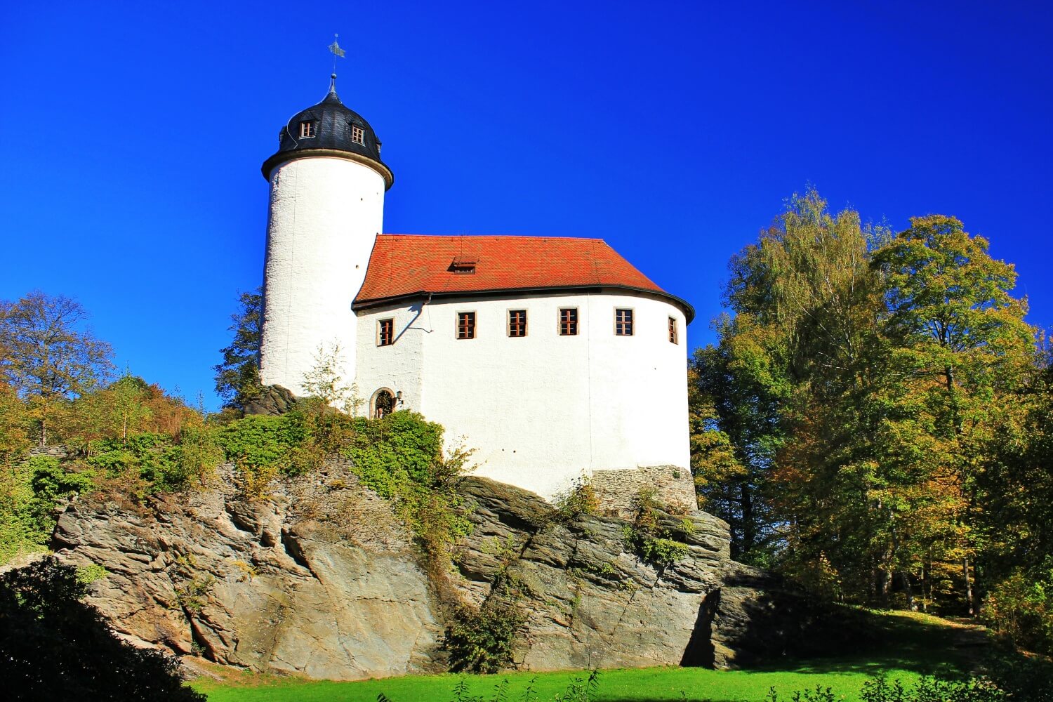
{"type": "Polygon", "coordinates": [[[0,373],[27,400],[40,445],[71,400],[113,369],[113,349],[83,328],[87,313],[71,298],[36,290],[0,306],[0,373]]]}

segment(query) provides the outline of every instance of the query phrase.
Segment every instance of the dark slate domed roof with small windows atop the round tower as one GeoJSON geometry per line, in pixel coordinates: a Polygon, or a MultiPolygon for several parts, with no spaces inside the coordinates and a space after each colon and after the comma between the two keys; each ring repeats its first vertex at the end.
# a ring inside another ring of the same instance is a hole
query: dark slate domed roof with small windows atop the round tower
{"type": "Polygon", "coordinates": [[[324,100],[293,115],[281,127],[278,152],[263,162],[263,177],[270,180],[276,166],[310,156],[344,158],[366,165],[383,176],[386,187],[395,181],[391,168],[380,160],[380,140],[373,127],[361,115],[340,102],[336,94],[336,74],[324,100]],[[360,141],[355,138],[358,135],[356,127],[361,129],[360,141]],[[305,134],[312,136],[301,136],[305,134]]]}

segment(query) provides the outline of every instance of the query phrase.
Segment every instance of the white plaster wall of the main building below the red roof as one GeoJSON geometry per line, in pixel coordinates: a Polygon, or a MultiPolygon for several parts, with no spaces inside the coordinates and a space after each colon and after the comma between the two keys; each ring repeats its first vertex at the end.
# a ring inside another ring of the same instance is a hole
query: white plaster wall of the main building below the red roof
{"type": "Polygon", "coordinates": [[[552,498],[593,469],[689,466],[684,319],[669,302],[613,294],[433,301],[365,312],[359,328],[362,395],[401,389],[405,408],[445,426],[448,449],[461,438],[477,449],[480,475],[552,498]],[[558,335],[560,307],[578,308],[578,336],[558,335]],[[634,309],[634,336],[614,336],[616,307],[634,309]],[[509,309],[528,310],[526,337],[508,336],[509,309]],[[458,340],[457,313],[473,310],[476,338],[458,340]],[[393,312],[396,334],[408,328],[395,346],[377,348],[376,320],[393,312]],[[669,341],[670,317],[679,344],[669,341]]]}

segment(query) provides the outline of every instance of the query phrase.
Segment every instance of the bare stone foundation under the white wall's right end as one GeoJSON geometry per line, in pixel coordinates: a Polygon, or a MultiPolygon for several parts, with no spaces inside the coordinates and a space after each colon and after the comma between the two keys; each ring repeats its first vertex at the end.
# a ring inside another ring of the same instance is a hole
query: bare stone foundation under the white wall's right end
{"type": "Polygon", "coordinates": [[[631,518],[640,490],[652,488],[671,512],[698,510],[691,470],[676,465],[648,465],[619,470],[593,470],[592,486],[604,514],[631,518]]]}

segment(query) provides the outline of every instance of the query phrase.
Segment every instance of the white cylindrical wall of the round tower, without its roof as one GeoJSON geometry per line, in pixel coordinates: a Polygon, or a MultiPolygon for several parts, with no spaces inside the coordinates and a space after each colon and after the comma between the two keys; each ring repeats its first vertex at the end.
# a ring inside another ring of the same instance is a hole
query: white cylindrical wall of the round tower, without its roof
{"type": "Polygon", "coordinates": [[[338,158],[287,161],[271,174],[260,378],[302,395],[319,345],[339,344],[354,376],[352,301],[383,221],[384,179],[338,158]]]}

